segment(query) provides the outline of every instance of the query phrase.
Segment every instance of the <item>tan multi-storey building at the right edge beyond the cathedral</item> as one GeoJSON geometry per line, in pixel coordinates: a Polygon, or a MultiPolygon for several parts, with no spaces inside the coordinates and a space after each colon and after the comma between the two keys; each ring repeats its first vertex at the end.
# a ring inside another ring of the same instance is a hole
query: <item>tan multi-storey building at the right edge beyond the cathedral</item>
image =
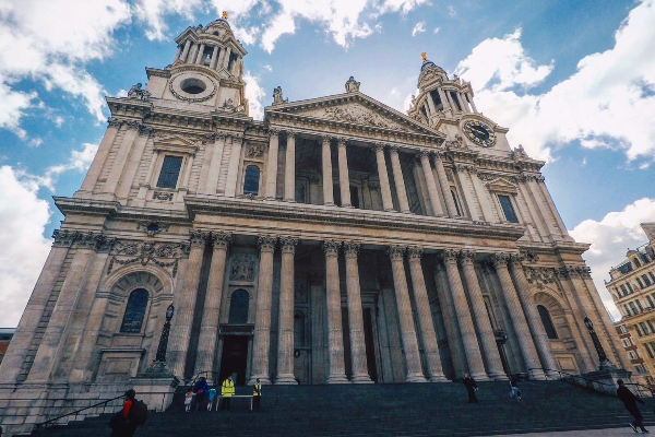
{"type": "MultiPolygon", "coordinates": [[[[629,249],[626,259],[609,271],[610,280],[605,286],[651,378],[655,375],[655,223],[642,223],[641,227],[648,243],[629,249]]],[[[636,375],[644,374],[634,367],[634,362],[630,368],[634,368],[636,375]]],[[[652,379],[648,382],[653,382],[652,379]]]]}

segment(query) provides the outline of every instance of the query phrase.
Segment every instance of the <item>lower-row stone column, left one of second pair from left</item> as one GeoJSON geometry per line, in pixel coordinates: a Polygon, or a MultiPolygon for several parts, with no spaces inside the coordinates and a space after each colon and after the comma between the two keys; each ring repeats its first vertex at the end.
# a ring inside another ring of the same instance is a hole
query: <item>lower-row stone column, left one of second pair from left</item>
{"type": "Polygon", "coordinates": [[[277,237],[260,235],[260,265],[257,285],[257,309],[254,339],[252,341],[252,374],[248,385],[260,379],[261,383],[271,383],[269,377],[269,353],[271,351],[271,303],[273,300],[273,252],[277,237]]]}

